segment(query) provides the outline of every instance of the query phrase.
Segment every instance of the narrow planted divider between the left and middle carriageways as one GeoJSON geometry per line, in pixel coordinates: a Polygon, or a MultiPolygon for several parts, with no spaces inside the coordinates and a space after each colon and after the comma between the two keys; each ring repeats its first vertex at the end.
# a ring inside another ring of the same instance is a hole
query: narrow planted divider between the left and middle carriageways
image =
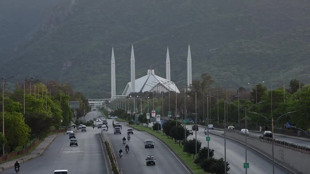
{"type": "Polygon", "coordinates": [[[119,172],[120,170],[118,168],[117,160],[114,154],[111,141],[109,140],[108,136],[106,136],[105,133],[103,133],[102,131],[100,135],[101,135],[102,140],[104,141],[104,145],[105,145],[105,148],[107,150],[107,153],[110,159],[110,164],[112,167],[113,174],[120,174],[119,172]]]}

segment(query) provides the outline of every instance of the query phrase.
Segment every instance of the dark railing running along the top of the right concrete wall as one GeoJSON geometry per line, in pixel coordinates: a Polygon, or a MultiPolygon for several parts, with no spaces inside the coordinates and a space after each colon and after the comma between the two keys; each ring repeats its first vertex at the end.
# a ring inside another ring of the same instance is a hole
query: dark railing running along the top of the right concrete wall
{"type": "MultiPolygon", "coordinates": [[[[245,137],[245,133],[242,133],[239,130],[226,128],[226,132],[237,133],[237,134],[242,135],[242,136],[245,137]]],[[[247,137],[251,138],[251,139],[258,140],[258,141],[264,141],[264,142],[267,142],[267,143],[272,143],[272,138],[262,137],[262,136],[253,135],[253,134],[247,134],[247,137]]],[[[296,144],[292,144],[292,143],[289,143],[289,142],[286,142],[286,141],[280,141],[280,140],[275,140],[274,139],[274,145],[282,146],[282,147],[285,147],[285,148],[288,148],[288,149],[297,150],[297,151],[302,152],[302,153],[310,154],[310,148],[305,147],[305,146],[299,146],[299,145],[296,145],[296,144]]]]}

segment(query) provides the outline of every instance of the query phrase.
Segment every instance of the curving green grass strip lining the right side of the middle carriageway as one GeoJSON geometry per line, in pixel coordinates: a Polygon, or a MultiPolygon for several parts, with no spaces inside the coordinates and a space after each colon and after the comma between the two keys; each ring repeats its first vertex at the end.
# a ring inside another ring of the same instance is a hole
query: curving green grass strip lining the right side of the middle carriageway
{"type": "Polygon", "coordinates": [[[156,133],[156,131],[152,131],[151,128],[142,127],[136,124],[127,124],[127,126],[130,126],[131,128],[134,128],[138,131],[147,132],[161,141],[183,164],[188,173],[206,174],[206,172],[204,172],[197,164],[194,163],[193,157],[190,157],[186,152],[183,152],[183,146],[179,146],[179,143],[175,144],[175,141],[171,140],[171,138],[167,138],[165,135],[163,136],[161,132],[156,133]]]}

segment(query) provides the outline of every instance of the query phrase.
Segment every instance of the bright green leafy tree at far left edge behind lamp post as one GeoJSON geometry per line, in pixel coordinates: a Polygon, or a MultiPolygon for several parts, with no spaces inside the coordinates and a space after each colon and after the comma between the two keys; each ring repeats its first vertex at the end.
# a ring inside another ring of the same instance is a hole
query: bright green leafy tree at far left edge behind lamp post
{"type": "MultiPolygon", "coordinates": [[[[1,113],[1,130],[2,130],[2,113],[1,113]]],[[[5,139],[7,144],[5,146],[7,152],[12,152],[18,146],[27,144],[30,137],[30,128],[24,122],[24,117],[18,112],[4,112],[5,122],[5,139]]]]}

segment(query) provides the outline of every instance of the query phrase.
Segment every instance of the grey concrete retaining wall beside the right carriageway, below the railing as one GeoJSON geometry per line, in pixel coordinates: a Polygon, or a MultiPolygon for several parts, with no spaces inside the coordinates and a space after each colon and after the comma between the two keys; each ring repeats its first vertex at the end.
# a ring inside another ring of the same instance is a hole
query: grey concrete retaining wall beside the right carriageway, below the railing
{"type": "MultiPolygon", "coordinates": [[[[245,142],[245,135],[240,131],[226,129],[226,137],[245,142]]],[[[272,139],[247,136],[247,144],[268,155],[272,155],[272,139]]],[[[281,141],[275,141],[274,145],[274,158],[277,161],[285,163],[303,174],[310,174],[310,153],[308,148],[281,141]]]]}

